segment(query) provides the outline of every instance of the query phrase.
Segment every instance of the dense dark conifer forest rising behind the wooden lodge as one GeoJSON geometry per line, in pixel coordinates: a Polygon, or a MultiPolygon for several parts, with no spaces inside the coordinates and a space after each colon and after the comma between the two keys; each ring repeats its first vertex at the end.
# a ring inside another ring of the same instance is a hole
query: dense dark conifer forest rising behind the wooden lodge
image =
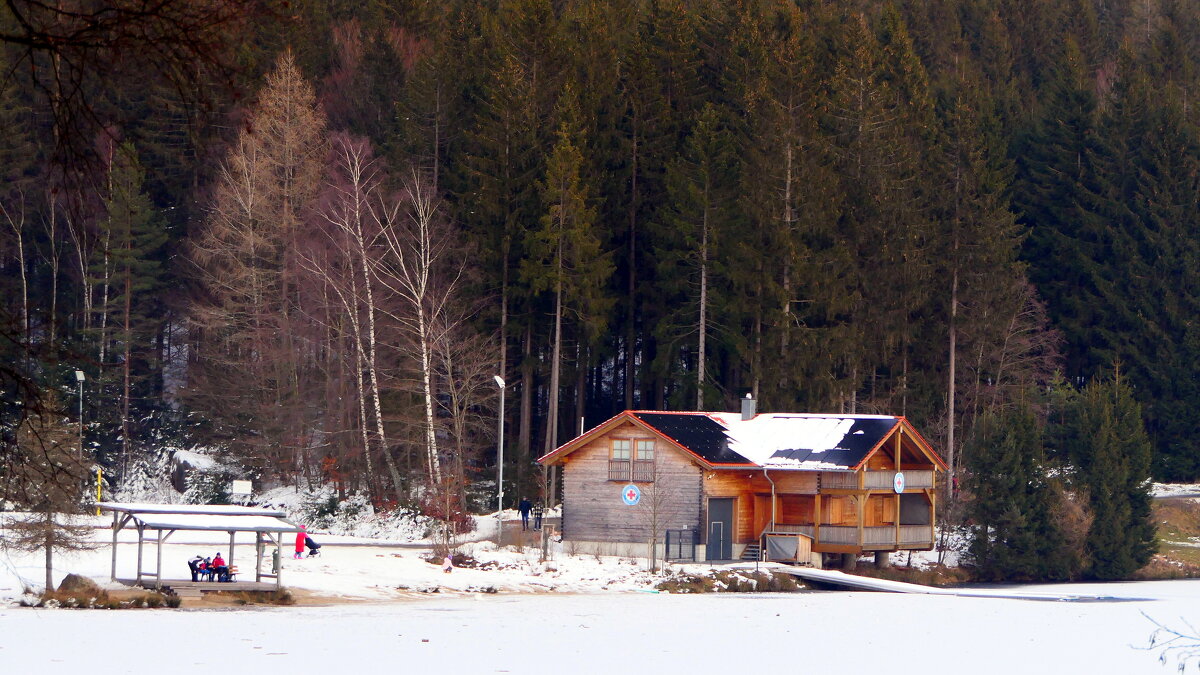
{"type": "Polygon", "coordinates": [[[82,393],[116,483],[410,503],[494,476],[493,375],[510,495],[746,394],[1200,478],[1195,2],[136,5],[0,8],[0,497],[82,393]]]}

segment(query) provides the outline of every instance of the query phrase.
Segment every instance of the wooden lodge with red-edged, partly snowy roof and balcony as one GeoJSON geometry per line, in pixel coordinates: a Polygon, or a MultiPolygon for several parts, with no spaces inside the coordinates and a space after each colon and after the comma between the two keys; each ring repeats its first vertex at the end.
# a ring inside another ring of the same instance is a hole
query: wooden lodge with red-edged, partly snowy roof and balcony
{"type": "Polygon", "coordinates": [[[671,560],[821,566],[934,546],[946,464],[904,417],[625,411],[538,461],[563,468],[563,538],[671,560]],[[850,555],[846,555],[850,554],[850,555]]]}

